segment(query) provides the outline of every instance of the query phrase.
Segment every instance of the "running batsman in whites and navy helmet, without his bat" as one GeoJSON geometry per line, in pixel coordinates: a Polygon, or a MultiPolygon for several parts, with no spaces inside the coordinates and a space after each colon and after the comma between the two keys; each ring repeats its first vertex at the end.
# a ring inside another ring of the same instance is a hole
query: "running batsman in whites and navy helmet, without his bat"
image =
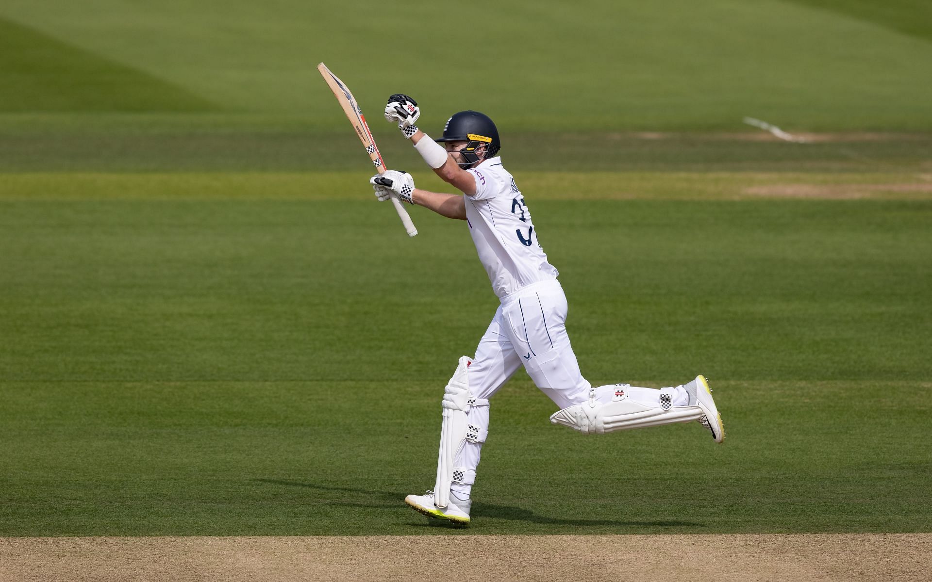
{"type": "Polygon", "coordinates": [[[447,120],[443,137],[432,140],[415,125],[419,115],[418,103],[403,94],[392,95],[385,107],[386,119],[397,123],[434,173],[462,194],[418,189],[410,174],[396,170],[370,183],[379,200],[395,194],[466,221],[500,305],[475,357],[460,358],[446,385],[433,491],[408,495],[404,502],[432,518],[469,523],[475,471],[488,436],[489,399],[521,366],[559,407],[550,417],[554,424],[602,434],[698,421],[715,442],[724,440],[719,411],[702,375],[659,390],[593,387],[583,378],[569,345],[566,295],[543,252],[525,196],[502,166],[495,124],[487,115],[461,111],[447,120]]]}

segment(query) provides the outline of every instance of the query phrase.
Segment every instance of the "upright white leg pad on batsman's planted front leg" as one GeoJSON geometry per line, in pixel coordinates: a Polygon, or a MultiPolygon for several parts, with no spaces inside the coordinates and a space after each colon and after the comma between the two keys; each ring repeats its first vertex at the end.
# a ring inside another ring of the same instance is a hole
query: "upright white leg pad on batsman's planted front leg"
{"type": "Polygon", "coordinates": [[[437,482],[433,486],[433,504],[445,508],[450,503],[450,485],[453,481],[472,485],[475,470],[454,467],[457,454],[467,440],[485,442],[488,430],[471,425],[466,413],[473,406],[488,406],[487,399],[473,398],[469,389],[467,369],[471,361],[468,356],[459,359],[457,371],[453,372],[444,391],[444,424],[440,430],[440,455],[437,461],[437,482]]]}

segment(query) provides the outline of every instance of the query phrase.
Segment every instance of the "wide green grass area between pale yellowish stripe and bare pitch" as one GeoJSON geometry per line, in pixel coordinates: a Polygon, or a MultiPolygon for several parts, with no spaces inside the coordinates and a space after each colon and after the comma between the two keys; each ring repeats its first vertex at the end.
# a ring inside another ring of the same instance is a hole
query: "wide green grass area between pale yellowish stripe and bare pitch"
{"type": "MultiPolygon", "coordinates": [[[[706,373],[729,440],[586,439],[519,374],[474,529],[928,529],[932,203],[541,197],[586,375],[706,373]]],[[[461,223],[415,211],[408,239],[375,202],[274,193],[0,204],[0,533],[442,531],[401,500],[496,305],[461,223]]]]}

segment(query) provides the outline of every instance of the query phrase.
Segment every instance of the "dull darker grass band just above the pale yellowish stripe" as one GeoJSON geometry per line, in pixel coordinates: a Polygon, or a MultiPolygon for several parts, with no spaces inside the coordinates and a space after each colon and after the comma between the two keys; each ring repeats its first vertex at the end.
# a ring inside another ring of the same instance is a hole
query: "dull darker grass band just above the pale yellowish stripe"
{"type": "MultiPolygon", "coordinates": [[[[263,115],[0,115],[0,127],[8,127],[0,132],[0,171],[347,171],[368,178],[368,157],[349,125],[321,132],[298,119],[291,123],[263,115]],[[226,126],[214,127],[221,122],[226,126]]],[[[932,172],[929,133],[810,133],[810,142],[791,143],[741,127],[746,130],[518,132],[500,122],[500,154],[506,168],[524,174],[932,172]]],[[[443,122],[423,129],[436,137],[443,122]]],[[[432,180],[431,170],[394,128],[373,130],[389,167],[413,172],[418,185],[432,180]]]]}

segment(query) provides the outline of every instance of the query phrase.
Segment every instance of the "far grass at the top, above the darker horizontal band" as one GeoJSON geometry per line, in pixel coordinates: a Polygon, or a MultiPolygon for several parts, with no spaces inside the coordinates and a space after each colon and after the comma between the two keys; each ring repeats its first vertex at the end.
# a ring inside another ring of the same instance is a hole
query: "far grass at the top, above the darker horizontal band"
{"type": "Polygon", "coordinates": [[[338,115],[314,115],[335,107],[313,69],[324,61],[373,118],[386,93],[408,92],[429,131],[470,107],[509,131],[740,129],[745,115],[791,129],[932,129],[926,2],[506,0],[478,11],[7,0],[0,112],[343,131],[338,115]]]}

